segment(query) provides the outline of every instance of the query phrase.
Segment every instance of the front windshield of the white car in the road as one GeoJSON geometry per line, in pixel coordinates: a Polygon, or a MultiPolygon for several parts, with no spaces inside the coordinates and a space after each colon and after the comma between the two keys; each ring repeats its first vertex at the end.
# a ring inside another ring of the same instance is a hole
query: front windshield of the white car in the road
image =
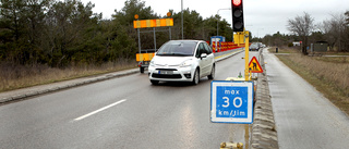
{"type": "Polygon", "coordinates": [[[156,53],[157,55],[190,57],[195,52],[196,41],[169,41],[156,53]]]}

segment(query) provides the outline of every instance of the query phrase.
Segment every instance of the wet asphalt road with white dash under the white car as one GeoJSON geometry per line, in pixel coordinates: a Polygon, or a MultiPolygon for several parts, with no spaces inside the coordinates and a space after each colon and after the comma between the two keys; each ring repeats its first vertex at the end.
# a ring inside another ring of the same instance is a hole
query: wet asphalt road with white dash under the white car
{"type": "MultiPolygon", "coordinates": [[[[251,57],[257,52],[250,52],[251,57]]],[[[220,61],[217,80],[243,74],[244,52],[220,61]]],[[[210,80],[196,86],[133,74],[0,107],[0,148],[219,148],[244,126],[209,121],[210,80]]]]}

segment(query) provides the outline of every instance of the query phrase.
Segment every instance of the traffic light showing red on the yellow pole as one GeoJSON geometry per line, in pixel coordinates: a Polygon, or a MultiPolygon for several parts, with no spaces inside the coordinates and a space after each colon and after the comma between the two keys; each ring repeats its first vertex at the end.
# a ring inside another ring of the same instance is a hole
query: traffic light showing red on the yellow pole
{"type": "Polygon", "coordinates": [[[232,30],[243,32],[243,7],[242,0],[231,0],[231,13],[232,13],[232,30]]]}

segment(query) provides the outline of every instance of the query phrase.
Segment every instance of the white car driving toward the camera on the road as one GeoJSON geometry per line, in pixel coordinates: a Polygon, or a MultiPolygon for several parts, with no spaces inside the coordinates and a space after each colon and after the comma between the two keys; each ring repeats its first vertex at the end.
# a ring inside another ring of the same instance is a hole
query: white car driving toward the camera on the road
{"type": "Polygon", "coordinates": [[[215,57],[203,40],[170,40],[156,52],[148,66],[153,85],[159,82],[192,82],[215,77],[215,57]]]}

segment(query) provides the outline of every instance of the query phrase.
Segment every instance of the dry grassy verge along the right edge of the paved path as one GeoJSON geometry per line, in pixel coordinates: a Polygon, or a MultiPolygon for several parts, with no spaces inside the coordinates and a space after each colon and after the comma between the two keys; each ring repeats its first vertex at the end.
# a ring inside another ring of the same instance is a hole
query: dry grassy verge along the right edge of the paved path
{"type": "Polygon", "coordinates": [[[306,57],[291,49],[279,53],[290,53],[276,55],[349,115],[349,57],[306,57]]]}

